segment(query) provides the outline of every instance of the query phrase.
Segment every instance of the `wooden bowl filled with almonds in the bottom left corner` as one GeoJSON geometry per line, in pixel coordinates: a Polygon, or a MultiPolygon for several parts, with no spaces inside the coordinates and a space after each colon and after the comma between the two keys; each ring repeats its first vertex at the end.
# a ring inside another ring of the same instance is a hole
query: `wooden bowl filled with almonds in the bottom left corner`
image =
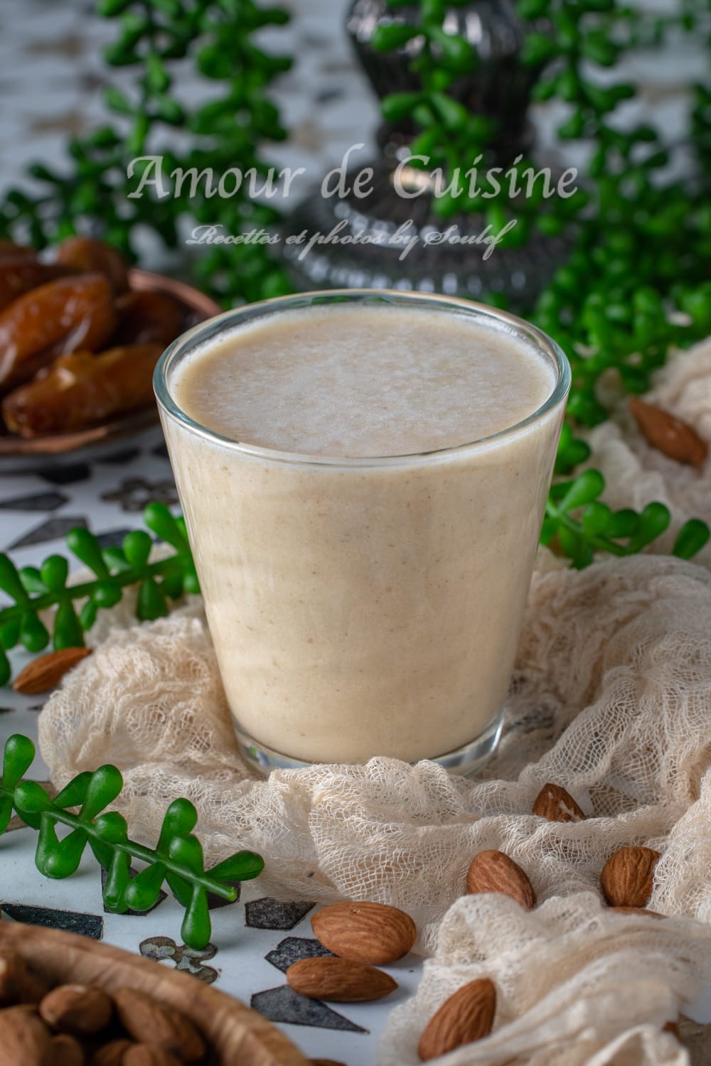
{"type": "Polygon", "coordinates": [[[75,933],[0,922],[1,1066],[133,1062],[308,1066],[260,1014],[197,978],[75,933]]]}

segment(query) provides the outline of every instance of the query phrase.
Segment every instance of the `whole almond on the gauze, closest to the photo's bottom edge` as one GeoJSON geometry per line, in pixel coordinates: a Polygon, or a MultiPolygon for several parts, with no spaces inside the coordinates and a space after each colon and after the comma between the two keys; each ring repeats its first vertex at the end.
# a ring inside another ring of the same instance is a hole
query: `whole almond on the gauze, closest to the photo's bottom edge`
{"type": "Polygon", "coordinates": [[[425,1027],[417,1053],[423,1062],[481,1040],[494,1024],[497,994],[488,978],[478,978],[445,1000],[425,1027]]]}

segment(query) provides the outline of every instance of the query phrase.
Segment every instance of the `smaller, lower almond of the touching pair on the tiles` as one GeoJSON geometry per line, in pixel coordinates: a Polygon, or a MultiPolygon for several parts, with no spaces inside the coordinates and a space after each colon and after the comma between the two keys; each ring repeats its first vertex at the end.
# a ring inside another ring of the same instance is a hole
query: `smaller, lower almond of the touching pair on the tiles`
{"type": "Polygon", "coordinates": [[[349,958],[302,958],[287,970],[287,984],[302,996],[334,1003],[382,999],[398,987],[389,973],[349,958]]]}

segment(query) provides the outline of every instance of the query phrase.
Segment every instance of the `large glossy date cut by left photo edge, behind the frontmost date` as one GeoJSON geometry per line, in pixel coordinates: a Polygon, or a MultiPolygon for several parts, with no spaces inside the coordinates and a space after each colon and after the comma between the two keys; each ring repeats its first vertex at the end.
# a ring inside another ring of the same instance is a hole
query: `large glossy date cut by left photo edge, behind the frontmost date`
{"type": "Polygon", "coordinates": [[[0,389],[28,381],[56,355],[102,348],[115,324],[111,287],[100,274],[26,292],[0,311],[0,389]]]}

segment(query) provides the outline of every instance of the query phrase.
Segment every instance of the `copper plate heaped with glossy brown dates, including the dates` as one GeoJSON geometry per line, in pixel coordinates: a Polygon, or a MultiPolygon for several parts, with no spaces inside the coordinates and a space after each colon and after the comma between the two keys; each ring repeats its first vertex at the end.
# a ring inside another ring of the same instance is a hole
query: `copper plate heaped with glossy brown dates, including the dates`
{"type": "Polygon", "coordinates": [[[0,242],[0,469],[76,462],[156,425],[158,357],[221,310],[90,238],[70,238],[54,256],[39,261],[0,242]]]}

